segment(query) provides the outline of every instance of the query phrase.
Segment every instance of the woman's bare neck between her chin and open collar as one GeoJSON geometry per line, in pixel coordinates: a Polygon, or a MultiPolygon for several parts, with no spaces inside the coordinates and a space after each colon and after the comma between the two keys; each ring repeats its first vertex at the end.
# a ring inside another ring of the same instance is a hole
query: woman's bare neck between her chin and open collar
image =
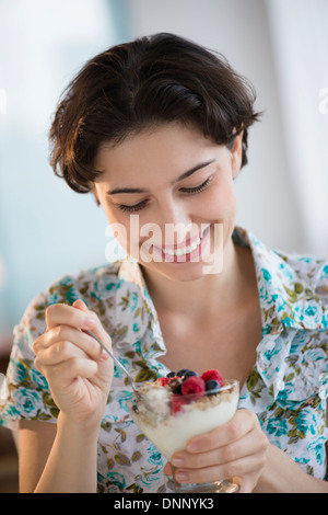
{"type": "Polygon", "coordinates": [[[245,285],[244,251],[237,249],[230,239],[224,250],[221,273],[203,275],[189,282],[175,282],[143,267],[145,283],[156,310],[211,318],[221,310],[235,306],[241,301],[241,291],[245,285]]]}

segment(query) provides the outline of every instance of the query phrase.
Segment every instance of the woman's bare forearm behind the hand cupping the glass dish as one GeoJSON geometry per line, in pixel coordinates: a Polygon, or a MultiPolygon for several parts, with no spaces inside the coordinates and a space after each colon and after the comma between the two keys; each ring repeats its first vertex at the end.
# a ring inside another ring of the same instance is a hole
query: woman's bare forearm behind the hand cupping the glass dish
{"type": "Polygon", "coordinates": [[[283,450],[269,445],[254,493],[328,493],[328,482],[307,474],[283,450]]]}

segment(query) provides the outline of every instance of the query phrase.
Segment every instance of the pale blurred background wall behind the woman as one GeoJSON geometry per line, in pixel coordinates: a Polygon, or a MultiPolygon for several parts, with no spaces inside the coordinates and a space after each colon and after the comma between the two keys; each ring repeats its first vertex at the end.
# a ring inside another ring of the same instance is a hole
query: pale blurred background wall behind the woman
{"type": "Polygon", "coordinates": [[[236,181],[238,224],[267,244],[328,255],[326,0],[0,0],[0,353],[60,275],[105,262],[107,222],[48,164],[58,98],[96,53],[174,32],[224,54],[262,122],[236,181]]]}

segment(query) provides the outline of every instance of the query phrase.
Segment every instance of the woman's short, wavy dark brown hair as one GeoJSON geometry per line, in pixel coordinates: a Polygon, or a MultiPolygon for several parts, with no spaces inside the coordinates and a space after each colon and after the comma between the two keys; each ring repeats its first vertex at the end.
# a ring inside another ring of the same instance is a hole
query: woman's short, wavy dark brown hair
{"type": "Polygon", "coordinates": [[[255,91],[226,59],[173,34],[116,45],[86,62],[63,93],[50,128],[50,163],[69,186],[87,193],[101,172],[99,145],[163,123],[196,124],[219,145],[258,119],[255,91]]]}

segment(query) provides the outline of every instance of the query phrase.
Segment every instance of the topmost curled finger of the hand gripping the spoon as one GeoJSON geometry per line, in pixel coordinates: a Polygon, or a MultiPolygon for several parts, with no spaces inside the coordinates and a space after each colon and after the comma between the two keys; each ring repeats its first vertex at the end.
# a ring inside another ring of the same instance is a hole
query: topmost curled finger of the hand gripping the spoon
{"type": "Polygon", "coordinates": [[[75,329],[90,330],[95,324],[95,317],[91,311],[82,311],[73,306],[54,304],[46,309],[46,323],[48,329],[56,325],[71,325],[75,329]]]}

